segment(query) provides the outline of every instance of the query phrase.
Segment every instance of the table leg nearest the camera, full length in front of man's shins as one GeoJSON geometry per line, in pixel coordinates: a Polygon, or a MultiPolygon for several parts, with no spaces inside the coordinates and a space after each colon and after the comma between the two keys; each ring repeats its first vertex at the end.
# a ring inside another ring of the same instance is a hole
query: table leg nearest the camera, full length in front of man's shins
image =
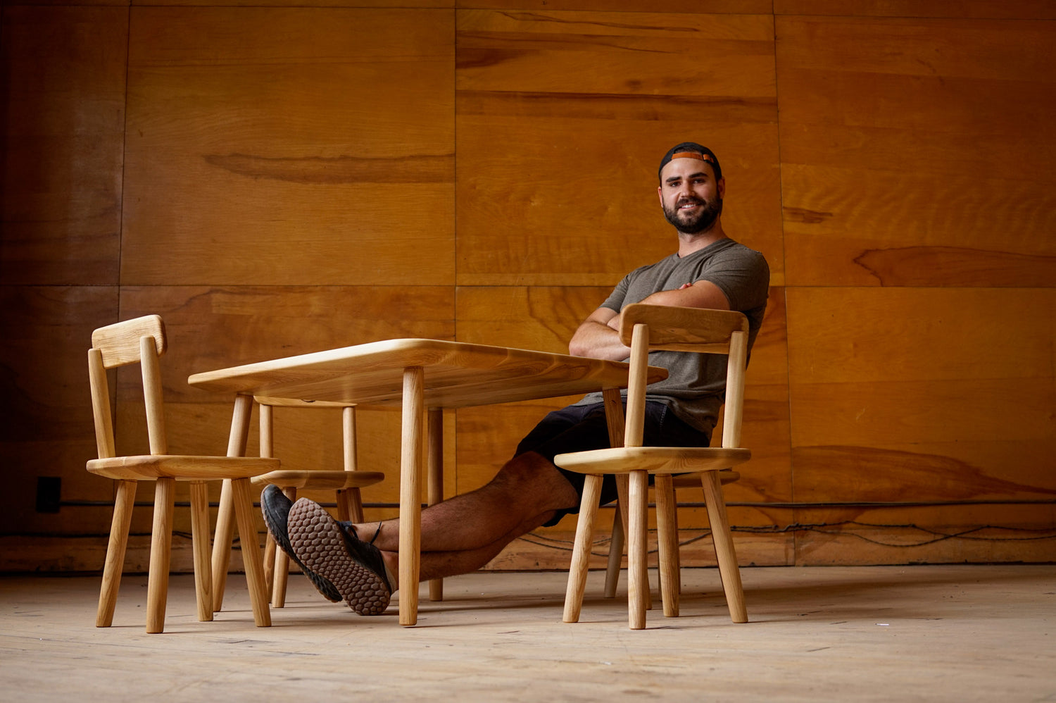
{"type": "Polygon", "coordinates": [[[403,408],[399,477],[399,624],[418,622],[418,574],[421,567],[421,475],[426,425],[426,373],[403,370],[403,408]]]}

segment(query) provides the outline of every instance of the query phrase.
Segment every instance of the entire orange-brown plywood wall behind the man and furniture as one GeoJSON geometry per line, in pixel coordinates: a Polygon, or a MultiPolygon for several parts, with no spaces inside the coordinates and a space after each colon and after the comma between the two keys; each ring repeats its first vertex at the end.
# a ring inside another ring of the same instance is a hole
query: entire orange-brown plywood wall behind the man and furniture
{"type": "MultiPolygon", "coordinates": [[[[725,229],[772,271],[754,460],[728,488],[742,561],[1056,558],[1049,3],[2,13],[0,569],[101,563],[93,328],[166,318],[172,450],[203,454],[224,450],[229,406],[187,387],[195,371],[406,336],[565,351],[624,273],[673,251],[655,169],[683,140],[719,154],[725,229]],[[38,477],[61,479],[58,513],[37,511],[38,477]]],[[[135,391],[118,374],[130,450],[135,391]]],[[[448,494],[562,402],[449,417],[448,494]]],[[[336,423],[280,413],[279,455],[336,465],[336,423]]],[[[360,413],[364,467],[396,471],[397,423],[360,413]]],[[[396,491],[371,488],[372,514],[396,491]]],[[[693,540],[706,517],[682,525],[693,540]]],[[[564,567],[571,529],[495,565],[564,567]]]]}

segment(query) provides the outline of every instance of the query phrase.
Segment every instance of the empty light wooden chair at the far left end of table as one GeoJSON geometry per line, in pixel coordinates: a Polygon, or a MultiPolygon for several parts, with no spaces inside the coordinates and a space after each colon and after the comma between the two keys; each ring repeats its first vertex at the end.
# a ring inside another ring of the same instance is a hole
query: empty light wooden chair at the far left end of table
{"type": "Polygon", "coordinates": [[[200,621],[212,619],[209,563],[209,501],[207,481],[230,479],[234,495],[239,533],[243,535],[243,558],[253,619],[259,627],[271,624],[264,588],[264,572],[257,544],[257,528],[249,496],[249,477],[279,468],[275,459],[241,457],[197,457],[169,455],[162,402],[162,373],[158,357],[165,353],[165,325],[157,315],[117,322],[92,333],[88,370],[92,388],[92,414],[99,458],[88,462],[92,474],[117,481],[114,517],[103,566],[102,588],[95,624],[113,623],[120,586],[125,551],[128,545],[136,483],[154,481],[154,523],[150,544],[150,573],[147,585],[147,632],[165,628],[165,606],[169,587],[172,549],[172,515],[175,481],[190,482],[191,534],[194,554],[194,587],[200,621]],[[143,370],[144,401],[150,454],[116,456],[107,369],[138,363],[143,370]]]}

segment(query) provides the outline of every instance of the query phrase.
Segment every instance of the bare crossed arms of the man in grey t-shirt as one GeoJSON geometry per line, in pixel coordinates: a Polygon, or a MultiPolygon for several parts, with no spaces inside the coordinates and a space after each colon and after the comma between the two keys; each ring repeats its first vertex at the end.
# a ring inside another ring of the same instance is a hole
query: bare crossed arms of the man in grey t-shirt
{"type": "MultiPolygon", "coordinates": [[[[642,302],[654,306],[681,306],[684,308],[711,308],[730,310],[730,301],[718,285],[711,281],[686,283],[677,291],[658,291],[642,302]]],[[[568,353],[574,356],[592,356],[622,362],[630,356],[630,348],[620,341],[621,314],[608,308],[599,308],[580,325],[568,343],[568,353]]]]}

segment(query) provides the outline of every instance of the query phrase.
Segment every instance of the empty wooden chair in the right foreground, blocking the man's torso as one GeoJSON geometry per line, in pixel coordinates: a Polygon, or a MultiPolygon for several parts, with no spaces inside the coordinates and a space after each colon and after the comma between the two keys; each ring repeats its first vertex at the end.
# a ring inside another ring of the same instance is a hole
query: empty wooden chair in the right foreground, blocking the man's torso
{"type": "Polygon", "coordinates": [[[554,463],[559,466],[586,474],[572,562],[568,574],[564,621],[566,623],[579,621],[586,586],[590,542],[593,537],[595,516],[598,512],[598,498],[604,474],[628,477],[626,532],[630,628],[645,627],[645,610],[648,607],[646,507],[650,474],[656,477],[660,587],[664,615],[670,617],[678,615],[678,535],[673,476],[699,474],[730,616],[735,623],[747,623],[744,594],[740,584],[740,572],[737,570],[737,557],[727,518],[725,502],[722,499],[719,474],[722,469],[748,461],[752,456],[749,449],[738,446],[744,403],[748,318],[739,312],[637,303],[624,309],[620,337],[623,344],[630,347],[631,365],[623,446],[554,457],[554,463]],[[648,353],[652,350],[729,355],[722,446],[642,446],[646,386],[644,380],[648,353]]]}

